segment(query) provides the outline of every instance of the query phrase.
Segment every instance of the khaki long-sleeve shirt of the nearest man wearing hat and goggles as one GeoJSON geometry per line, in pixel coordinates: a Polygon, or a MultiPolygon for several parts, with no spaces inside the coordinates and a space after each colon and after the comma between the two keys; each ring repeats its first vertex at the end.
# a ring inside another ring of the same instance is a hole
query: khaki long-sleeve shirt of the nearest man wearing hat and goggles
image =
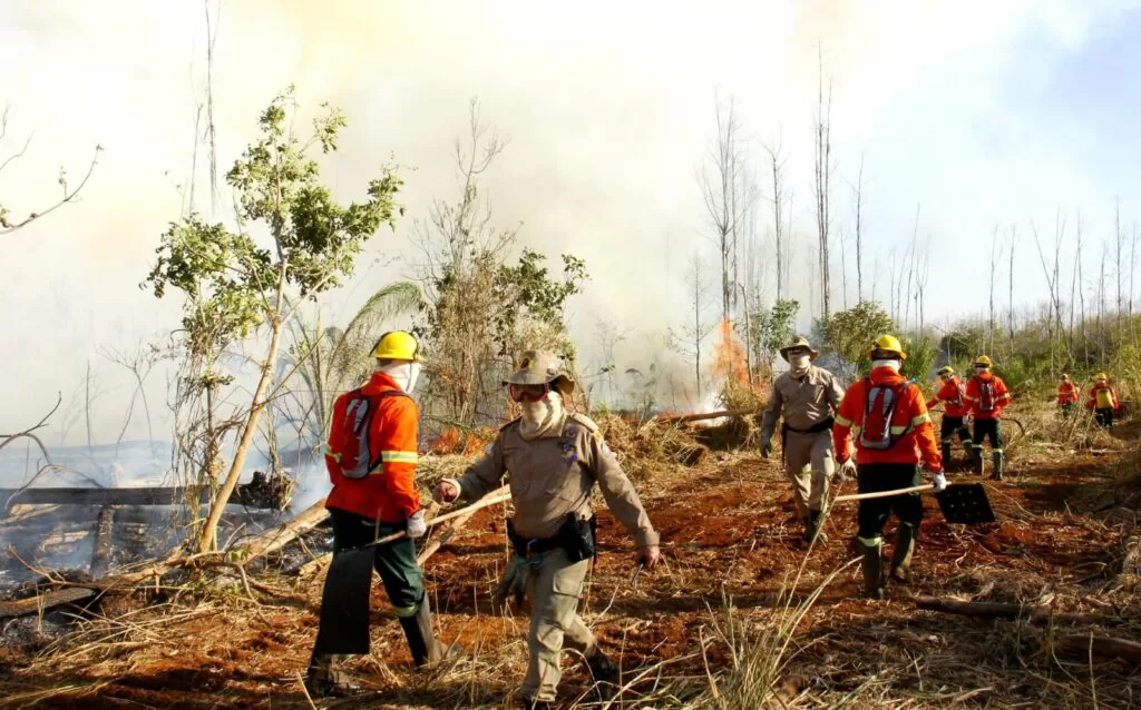
{"type": "Polygon", "coordinates": [[[525,538],[555,537],[567,513],[589,519],[597,482],[610,512],[637,544],[658,544],[638,491],[588,417],[568,414],[561,431],[531,441],[520,434],[519,419],[511,422],[500,430],[487,455],[455,481],[460,497],[483,498],[501,485],[509,471],[515,529],[525,538]]]}

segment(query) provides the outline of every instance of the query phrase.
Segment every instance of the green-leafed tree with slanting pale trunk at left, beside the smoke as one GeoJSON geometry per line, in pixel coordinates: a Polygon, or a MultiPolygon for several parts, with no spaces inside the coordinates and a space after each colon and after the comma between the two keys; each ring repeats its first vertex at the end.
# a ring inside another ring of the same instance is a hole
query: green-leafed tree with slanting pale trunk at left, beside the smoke
{"type": "Polygon", "coordinates": [[[314,120],[313,136],[302,144],[292,131],[293,88],[278,95],[259,119],[261,138],[226,176],[236,196],[236,230],[209,225],[196,215],[171,223],[144,283],[156,297],[171,288],[183,292],[184,344],[191,359],[207,364],[205,378],[215,376],[213,353],[268,329],[266,357],[242,417],[234,460],[199,531],[199,552],[217,548],[218,522],[258,422],[282,386],[281,382],[272,386],[274,365],[297,302],[339,286],[340,278],[353,272],[365,242],[381,225],[395,227],[399,211],[394,198],[402,181],[390,166],[369,181],[363,202],[341,205],[333,199],[311,153],[315,148],[321,154],[334,152],[346,120],[335,108],[323,108],[326,113],[314,120]],[[259,225],[257,234],[254,225],[259,225]]]}

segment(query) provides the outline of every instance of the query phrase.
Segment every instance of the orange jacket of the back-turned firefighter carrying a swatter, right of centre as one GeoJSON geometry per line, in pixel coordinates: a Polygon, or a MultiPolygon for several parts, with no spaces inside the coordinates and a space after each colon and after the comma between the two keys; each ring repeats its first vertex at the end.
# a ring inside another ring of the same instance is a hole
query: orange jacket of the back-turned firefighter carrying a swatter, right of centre
{"type": "MultiPolygon", "coordinates": [[[[868,376],[873,385],[899,386],[906,380],[890,367],[877,367],[868,376]]],[[[917,385],[904,386],[897,400],[896,410],[891,415],[892,434],[896,443],[884,450],[865,449],[859,443],[859,431],[864,425],[864,413],[867,408],[867,380],[858,380],[844,392],[832,426],[832,443],[837,458],[847,459],[849,438],[856,439],[857,464],[912,464],[925,462],[932,471],[942,470],[942,456],[934,440],[934,427],[928,415],[923,392],[917,385]]]]}

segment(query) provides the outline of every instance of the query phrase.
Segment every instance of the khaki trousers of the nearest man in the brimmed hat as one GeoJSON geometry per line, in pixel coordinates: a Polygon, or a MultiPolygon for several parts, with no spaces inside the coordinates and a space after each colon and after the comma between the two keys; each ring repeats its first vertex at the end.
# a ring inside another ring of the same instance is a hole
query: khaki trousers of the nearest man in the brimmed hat
{"type": "Polygon", "coordinates": [[[578,601],[590,561],[570,562],[561,549],[543,555],[543,563],[527,579],[531,599],[531,634],[527,637],[527,676],[523,695],[531,700],[555,701],[563,677],[559,668],[563,645],[589,656],[598,642],[578,617],[578,601]]]}

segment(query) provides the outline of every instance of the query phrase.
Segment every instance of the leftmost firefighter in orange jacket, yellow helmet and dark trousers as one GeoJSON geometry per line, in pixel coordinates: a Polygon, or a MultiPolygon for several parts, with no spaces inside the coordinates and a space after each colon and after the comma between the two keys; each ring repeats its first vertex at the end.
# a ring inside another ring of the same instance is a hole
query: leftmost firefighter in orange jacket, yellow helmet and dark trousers
{"type": "MultiPolygon", "coordinates": [[[[442,656],[442,647],[432,636],[431,611],[414,542],[427,532],[414,481],[420,413],[408,395],[420,374],[422,357],[416,338],[404,330],[382,335],[371,356],[377,359],[377,370],[369,382],[340,395],[333,405],[325,452],[333,489],[325,507],[333,523],[334,557],[347,550],[374,550],[372,565],[404,629],[413,662],[422,666],[442,656]],[[395,542],[367,547],[373,540],[396,532],[407,534],[395,542]]],[[[327,648],[338,644],[331,644],[327,637],[341,629],[326,626],[337,625],[334,607],[346,602],[331,598],[330,588],[326,579],[322,628],[306,680],[309,692],[318,695],[354,689],[331,668],[333,653],[327,648]]],[[[363,594],[367,598],[367,589],[363,594]]]]}

